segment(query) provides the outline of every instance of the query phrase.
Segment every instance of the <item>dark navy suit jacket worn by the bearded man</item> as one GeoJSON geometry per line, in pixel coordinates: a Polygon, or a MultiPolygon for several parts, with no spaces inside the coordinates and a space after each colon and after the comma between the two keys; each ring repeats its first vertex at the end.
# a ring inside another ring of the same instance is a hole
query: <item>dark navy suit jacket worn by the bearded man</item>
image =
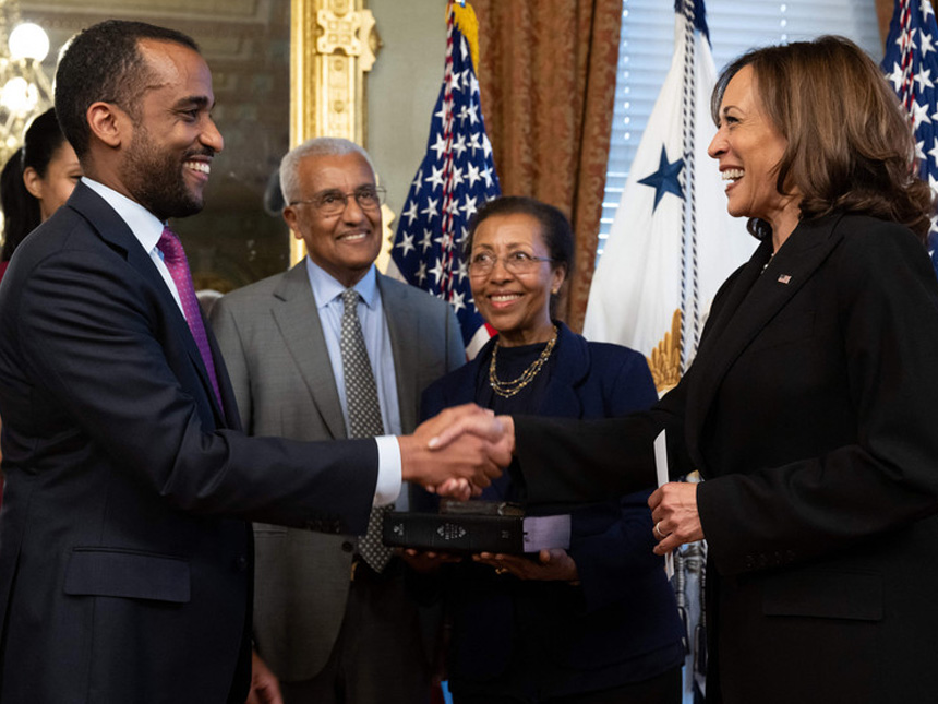
{"type": "Polygon", "coordinates": [[[374,442],[245,438],[208,334],[224,417],[148,254],[84,184],[17,250],[0,285],[3,702],[240,704],[246,521],[364,530],[374,442]]]}

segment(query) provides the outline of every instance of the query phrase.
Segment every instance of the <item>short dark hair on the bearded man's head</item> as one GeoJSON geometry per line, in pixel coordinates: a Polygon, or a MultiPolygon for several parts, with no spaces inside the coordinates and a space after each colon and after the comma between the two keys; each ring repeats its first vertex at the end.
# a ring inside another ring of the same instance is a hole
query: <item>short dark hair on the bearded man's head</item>
{"type": "Polygon", "coordinates": [[[56,111],[80,159],[88,151],[86,112],[92,104],[113,103],[139,119],[139,97],[149,77],[137,48],[141,39],[171,41],[199,51],[199,45],[181,32],[124,20],[100,22],[69,40],[56,70],[56,111]]]}

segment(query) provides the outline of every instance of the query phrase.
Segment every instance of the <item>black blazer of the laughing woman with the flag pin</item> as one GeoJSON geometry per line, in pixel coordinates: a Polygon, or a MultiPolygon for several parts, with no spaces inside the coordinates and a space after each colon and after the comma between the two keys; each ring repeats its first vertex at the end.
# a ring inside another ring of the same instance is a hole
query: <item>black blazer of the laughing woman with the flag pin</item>
{"type": "Polygon", "coordinates": [[[706,478],[708,701],[931,701],[935,273],[905,228],[857,215],[770,251],[723,286],[697,359],[650,414],[518,419],[529,492],[627,491],[669,428],[672,475],[706,478]],[[574,458],[592,481],[564,473],[574,458]]]}

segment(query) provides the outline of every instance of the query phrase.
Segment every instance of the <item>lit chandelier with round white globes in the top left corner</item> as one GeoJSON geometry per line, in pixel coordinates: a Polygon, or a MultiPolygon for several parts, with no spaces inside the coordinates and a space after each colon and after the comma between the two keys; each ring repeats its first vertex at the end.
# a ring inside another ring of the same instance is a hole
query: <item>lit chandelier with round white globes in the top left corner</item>
{"type": "Polygon", "coordinates": [[[0,0],[0,166],[23,142],[23,130],[52,107],[52,83],[43,70],[49,37],[38,24],[20,22],[16,0],[0,0]]]}

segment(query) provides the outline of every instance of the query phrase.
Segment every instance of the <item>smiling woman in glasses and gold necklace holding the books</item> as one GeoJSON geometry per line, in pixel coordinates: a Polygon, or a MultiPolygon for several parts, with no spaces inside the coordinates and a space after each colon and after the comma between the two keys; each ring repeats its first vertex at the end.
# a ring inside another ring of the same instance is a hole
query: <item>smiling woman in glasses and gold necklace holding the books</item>
{"type": "MultiPolygon", "coordinates": [[[[527,198],[486,203],[467,256],[476,307],[498,335],[426,390],[423,416],[476,402],[496,414],[604,418],[657,401],[641,355],[551,319],[573,258],[560,211],[527,198]]],[[[681,701],[684,631],[652,553],[649,493],[574,512],[568,550],[445,565],[457,704],[681,701]]],[[[522,499],[507,472],[481,498],[522,499]]]]}

